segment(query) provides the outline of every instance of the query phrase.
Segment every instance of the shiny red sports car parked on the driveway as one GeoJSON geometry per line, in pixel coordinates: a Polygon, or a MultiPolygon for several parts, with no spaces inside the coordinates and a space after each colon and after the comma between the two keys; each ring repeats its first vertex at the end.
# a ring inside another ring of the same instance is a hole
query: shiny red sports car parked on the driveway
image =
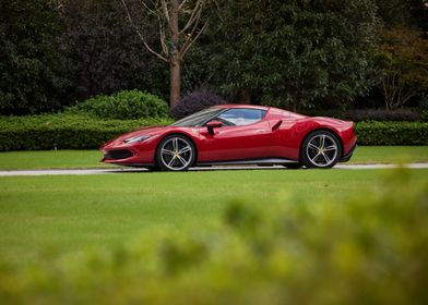
{"type": "Polygon", "coordinates": [[[349,160],[354,123],[273,107],[214,106],[168,126],[144,127],[104,144],[103,162],[167,171],[194,166],[331,168],[349,160]]]}

